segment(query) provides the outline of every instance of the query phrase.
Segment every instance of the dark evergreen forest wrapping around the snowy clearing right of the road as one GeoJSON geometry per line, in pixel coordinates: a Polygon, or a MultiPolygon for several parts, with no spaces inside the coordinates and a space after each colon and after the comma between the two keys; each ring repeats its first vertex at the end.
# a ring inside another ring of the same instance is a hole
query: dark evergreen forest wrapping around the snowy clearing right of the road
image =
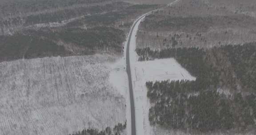
{"type": "Polygon", "coordinates": [[[139,60],[174,57],[196,76],[195,81],[146,83],[153,104],[152,124],[204,132],[243,131],[255,125],[256,43],[209,49],[137,48],[136,52],[139,60]]]}

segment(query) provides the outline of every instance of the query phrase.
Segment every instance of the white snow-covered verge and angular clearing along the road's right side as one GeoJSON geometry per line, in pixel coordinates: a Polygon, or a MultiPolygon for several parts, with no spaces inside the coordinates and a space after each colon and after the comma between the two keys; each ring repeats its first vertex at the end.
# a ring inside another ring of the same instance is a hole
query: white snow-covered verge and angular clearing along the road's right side
{"type": "Polygon", "coordinates": [[[151,127],[148,120],[148,110],[150,108],[147,98],[146,81],[156,80],[178,80],[178,79],[196,79],[188,71],[180,66],[174,59],[162,59],[153,61],[139,62],[136,49],[136,33],[140,22],[135,25],[132,32],[130,43],[130,64],[132,74],[132,87],[135,99],[136,113],[136,134],[137,135],[157,135],[156,127],[151,127]],[[154,129],[155,128],[155,129],[154,129]]]}

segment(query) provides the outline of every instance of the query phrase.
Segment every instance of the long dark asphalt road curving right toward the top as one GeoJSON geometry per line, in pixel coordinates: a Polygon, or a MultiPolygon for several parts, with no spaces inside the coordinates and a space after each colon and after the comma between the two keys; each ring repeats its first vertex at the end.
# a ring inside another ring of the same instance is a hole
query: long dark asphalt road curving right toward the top
{"type": "MultiPolygon", "coordinates": [[[[174,2],[168,4],[166,7],[171,6],[172,4],[176,4],[179,0],[175,0],[174,2]]],[[[164,8],[164,7],[163,7],[164,8]]],[[[140,17],[138,17],[138,19],[136,19],[134,21],[134,23],[132,24],[132,28],[129,32],[128,35],[128,41],[127,41],[127,45],[126,45],[126,71],[128,74],[128,82],[129,82],[129,91],[130,91],[130,105],[131,105],[131,134],[132,135],[136,135],[136,120],[135,120],[135,104],[134,104],[134,96],[133,96],[133,90],[132,90],[132,75],[131,75],[131,67],[130,67],[130,42],[131,42],[131,37],[132,37],[132,33],[134,31],[134,27],[137,23],[140,22],[141,19],[143,19],[145,16],[148,16],[149,14],[151,14],[152,12],[156,12],[158,10],[160,10],[161,8],[158,8],[156,10],[150,11],[148,13],[145,13],[143,15],[141,15],[140,17]]],[[[135,31],[137,32],[137,31],[135,31]]]]}

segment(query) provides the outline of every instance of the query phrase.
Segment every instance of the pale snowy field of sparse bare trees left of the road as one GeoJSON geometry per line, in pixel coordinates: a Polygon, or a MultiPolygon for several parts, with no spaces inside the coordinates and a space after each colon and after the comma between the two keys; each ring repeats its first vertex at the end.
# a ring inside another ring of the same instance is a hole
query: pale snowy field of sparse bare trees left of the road
{"type": "Polygon", "coordinates": [[[109,82],[114,60],[94,55],[0,63],[0,135],[68,135],[124,123],[124,93],[109,82]]]}

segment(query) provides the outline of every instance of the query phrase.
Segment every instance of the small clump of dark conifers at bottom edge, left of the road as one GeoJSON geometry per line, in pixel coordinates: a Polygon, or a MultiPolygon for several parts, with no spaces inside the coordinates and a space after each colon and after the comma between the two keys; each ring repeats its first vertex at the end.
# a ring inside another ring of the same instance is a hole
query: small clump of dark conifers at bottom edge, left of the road
{"type": "Polygon", "coordinates": [[[120,133],[122,133],[125,128],[126,122],[124,123],[124,125],[122,123],[118,123],[117,125],[115,125],[113,130],[111,130],[110,127],[106,127],[106,129],[103,131],[98,131],[97,129],[89,128],[69,135],[120,135],[120,133]]]}

